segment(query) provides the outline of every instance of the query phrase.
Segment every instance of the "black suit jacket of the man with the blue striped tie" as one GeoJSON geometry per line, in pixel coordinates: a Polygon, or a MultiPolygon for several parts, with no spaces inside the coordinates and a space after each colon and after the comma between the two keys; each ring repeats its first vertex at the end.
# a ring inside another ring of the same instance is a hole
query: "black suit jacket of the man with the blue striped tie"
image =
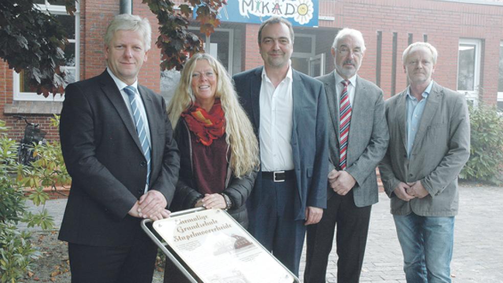
{"type": "MultiPolygon", "coordinates": [[[[179,156],[161,96],[138,87],[151,140],[149,190],[170,204],[178,179],[179,156]]],[[[110,75],[70,84],[61,110],[61,149],[72,188],[59,239],[75,244],[127,244],[139,218],[128,215],[144,194],[147,166],[127,106],[110,75]]]]}

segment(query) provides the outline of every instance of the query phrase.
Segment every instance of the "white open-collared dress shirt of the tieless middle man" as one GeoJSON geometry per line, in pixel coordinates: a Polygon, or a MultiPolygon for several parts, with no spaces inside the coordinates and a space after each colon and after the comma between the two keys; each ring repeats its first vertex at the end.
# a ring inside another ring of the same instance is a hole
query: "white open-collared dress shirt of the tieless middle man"
{"type": "Polygon", "coordinates": [[[275,88],[262,69],[260,86],[260,161],[262,171],[293,170],[292,68],[275,88]]]}

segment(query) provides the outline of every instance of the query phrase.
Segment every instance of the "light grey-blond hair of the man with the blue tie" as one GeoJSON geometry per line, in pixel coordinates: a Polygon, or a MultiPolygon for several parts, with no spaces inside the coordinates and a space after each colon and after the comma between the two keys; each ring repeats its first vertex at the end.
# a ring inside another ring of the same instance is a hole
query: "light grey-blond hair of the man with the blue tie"
{"type": "Polygon", "coordinates": [[[152,28],[150,27],[150,23],[147,18],[141,18],[136,15],[129,14],[120,14],[115,16],[108,28],[106,29],[106,33],[104,36],[104,41],[107,46],[110,46],[110,41],[113,38],[113,35],[117,31],[139,31],[143,37],[143,44],[145,45],[145,51],[150,49],[150,43],[152,42],[152,28]]]}

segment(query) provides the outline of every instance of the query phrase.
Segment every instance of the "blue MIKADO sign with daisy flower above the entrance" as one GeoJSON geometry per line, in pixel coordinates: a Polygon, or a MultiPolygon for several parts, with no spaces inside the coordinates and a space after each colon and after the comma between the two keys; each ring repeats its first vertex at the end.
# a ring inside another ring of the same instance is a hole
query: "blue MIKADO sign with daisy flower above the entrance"
{"type": "Polygon", "coordinates": [[[221,21],[261,23],[279,16],[293,26],[318,26],[318,0],[228,0],[219,11],[221,21]]]}

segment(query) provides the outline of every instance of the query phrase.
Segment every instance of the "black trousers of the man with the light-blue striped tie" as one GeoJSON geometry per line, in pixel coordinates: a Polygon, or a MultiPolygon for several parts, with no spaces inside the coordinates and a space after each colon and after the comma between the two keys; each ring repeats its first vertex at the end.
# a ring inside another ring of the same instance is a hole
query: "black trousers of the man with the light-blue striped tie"
{"type": "Polygon", "coordinates": [[[96,247],[68,243],[72,283],[150,283],[157,246],[138,226],[130,245],[96,247]]]}

